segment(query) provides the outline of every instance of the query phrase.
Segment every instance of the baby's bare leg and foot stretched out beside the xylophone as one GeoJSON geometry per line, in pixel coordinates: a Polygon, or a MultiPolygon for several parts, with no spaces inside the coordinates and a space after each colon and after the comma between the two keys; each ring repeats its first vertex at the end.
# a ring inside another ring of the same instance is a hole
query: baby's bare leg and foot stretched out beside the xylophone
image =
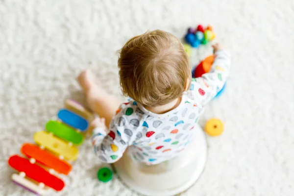
{"type": "Polygon", "coordinates": [[[100,118],[105,118],[105,125],[108,127],[112,117],[121,104],[121,100],[106,93],[98,86],[89,70],[80,73],[78,82],[85,92],[90,109],[97,113],[100,118]]]}

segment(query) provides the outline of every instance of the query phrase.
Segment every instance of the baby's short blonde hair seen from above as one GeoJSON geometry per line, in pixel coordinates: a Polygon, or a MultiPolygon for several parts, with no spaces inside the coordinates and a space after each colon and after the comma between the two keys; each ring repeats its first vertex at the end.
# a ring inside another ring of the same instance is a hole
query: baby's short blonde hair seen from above
{"type": "Polygon", "coordinates": [[[191,78],[182,43],[162,30],[127,41],[120,50],[118,66],[123,95],[144,106],[164,105],[180,97],[191,78]]]}

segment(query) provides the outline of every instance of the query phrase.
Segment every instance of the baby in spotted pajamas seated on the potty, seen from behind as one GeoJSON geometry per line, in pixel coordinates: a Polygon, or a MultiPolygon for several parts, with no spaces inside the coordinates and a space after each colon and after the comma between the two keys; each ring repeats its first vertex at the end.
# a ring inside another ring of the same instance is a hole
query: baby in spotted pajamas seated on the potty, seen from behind
{"type": "Polygon", "coordinates": [[[230,53],[219,44],[213,49],[211,71],[192,78],[186,51],[172,34],[154,30],[130,39],[118,60],[123,95],[129,97],[123,103],[96,85],[89,71],[82,72],[78,80],[100,117],[91,124],[99,159],[116,162],[128,147],[134,160],[154,165],[184,150],[201,110],[229,74],[230,53]]]}

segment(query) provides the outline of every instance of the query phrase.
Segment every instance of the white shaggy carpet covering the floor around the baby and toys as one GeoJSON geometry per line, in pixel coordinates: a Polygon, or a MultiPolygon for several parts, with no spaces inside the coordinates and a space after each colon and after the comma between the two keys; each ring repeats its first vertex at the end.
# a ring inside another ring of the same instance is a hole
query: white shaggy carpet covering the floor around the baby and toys
{"type": "MultiPolygon", "coordinates": [[[[202,23],[233,67],[202,118],[220,118],[224,133],[208,137],[205,171],[183,196],[293,196],[293,21],[293,0],[0,0],[0,195],[29,195],[11,183],[7,159],[66,98],[84,101],[81,70],[120,96],[116,51],[127,39],[158,28],[181,38],[202,23]]],[[[193,65],[210,52],[195,50],[193,65]]],[[[56,195],[137,196],[117,178],[99,183],[98,168],[87,141],[56,195]]]]}

